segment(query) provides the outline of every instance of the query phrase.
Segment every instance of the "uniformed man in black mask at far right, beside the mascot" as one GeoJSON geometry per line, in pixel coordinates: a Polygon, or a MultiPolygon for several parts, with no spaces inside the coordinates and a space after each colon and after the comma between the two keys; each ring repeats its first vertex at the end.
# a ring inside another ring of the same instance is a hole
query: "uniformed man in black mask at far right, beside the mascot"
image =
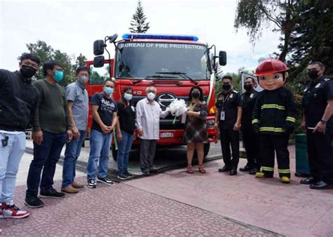
{"type": "Polygon", "coordinates": [[[308,65],[311,83],[304,90],[303,121],[311,177],[301,184],[311,189],[333,189],[333,80],[325,79],[321,62],[308,65]]]}

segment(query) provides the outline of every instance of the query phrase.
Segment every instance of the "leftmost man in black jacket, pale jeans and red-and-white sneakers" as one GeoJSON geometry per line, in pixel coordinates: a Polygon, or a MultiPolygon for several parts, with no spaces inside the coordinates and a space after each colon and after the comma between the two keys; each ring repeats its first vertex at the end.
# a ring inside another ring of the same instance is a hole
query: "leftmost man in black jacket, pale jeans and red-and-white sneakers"
{"type": "Polygon", "coordinates": [[[14,205],[14,189],[20,159],[25,151],[25,129],[38,106],[39,91],[31,78],[39,58],[23,53],[20,71],[0,69],[0,216],[24,218],[29,212],[14,205]]]}

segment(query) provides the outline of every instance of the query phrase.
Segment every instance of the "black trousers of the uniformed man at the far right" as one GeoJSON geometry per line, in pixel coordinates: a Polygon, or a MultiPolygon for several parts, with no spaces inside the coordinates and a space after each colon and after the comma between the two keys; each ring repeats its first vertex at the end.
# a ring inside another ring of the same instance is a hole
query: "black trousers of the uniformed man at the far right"
{"type": "Polygon", "coordinates": [[[313,133],[306,131],[308,144],[308,165],[311,175],[318,180],[333,183],[333,131],[326,133],[313,133]]]}

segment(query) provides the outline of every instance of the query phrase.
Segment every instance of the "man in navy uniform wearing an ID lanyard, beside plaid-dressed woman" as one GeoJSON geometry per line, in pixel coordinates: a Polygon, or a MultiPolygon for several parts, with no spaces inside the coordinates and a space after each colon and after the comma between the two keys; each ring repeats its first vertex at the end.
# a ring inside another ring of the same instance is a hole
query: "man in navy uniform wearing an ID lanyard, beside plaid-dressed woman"
{"type": "Polygon", "coordinates": [[[242,97],[232,89],[233,78],[224,76],[223,91],[218,94],[216,101],[215,128],[220,129],[221,149],[224,167],[219,172],[230,171],[230,175],[237,175],[237,165],[240,161],[240,123],[242,118],[242,97]],[[231,159],[230,144],[233,151],[231,159]]]}

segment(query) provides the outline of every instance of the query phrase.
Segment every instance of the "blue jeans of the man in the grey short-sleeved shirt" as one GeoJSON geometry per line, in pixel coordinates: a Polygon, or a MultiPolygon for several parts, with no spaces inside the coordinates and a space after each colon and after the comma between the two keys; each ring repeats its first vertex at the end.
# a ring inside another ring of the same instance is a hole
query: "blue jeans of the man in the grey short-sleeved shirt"
{"type": "Polygon", "coordinates": [[[77,158],[80,156],[82,143],[86,137],[85,130],[79,130],[79,133],[79,137],[66,144],[63,165],[63,184],[61,184],[61,187],[63,188],[70,186],[74,182],[75,165],[77,163],[77,158]]]}

